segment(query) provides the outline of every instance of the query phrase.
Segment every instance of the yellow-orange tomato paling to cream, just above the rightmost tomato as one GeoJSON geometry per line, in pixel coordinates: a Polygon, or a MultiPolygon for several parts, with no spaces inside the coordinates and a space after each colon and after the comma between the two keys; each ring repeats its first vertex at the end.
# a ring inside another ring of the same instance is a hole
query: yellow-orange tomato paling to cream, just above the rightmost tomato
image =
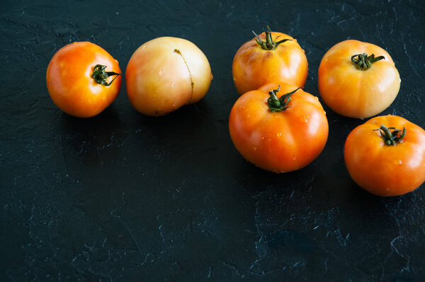
{"type": "Polygon", "coordinates": [[[369,118],[391,105],[400,76],[381,47],[345,40],[331,47],[319,66],[319,92],[324,103],[340,115],[369,118]]]}

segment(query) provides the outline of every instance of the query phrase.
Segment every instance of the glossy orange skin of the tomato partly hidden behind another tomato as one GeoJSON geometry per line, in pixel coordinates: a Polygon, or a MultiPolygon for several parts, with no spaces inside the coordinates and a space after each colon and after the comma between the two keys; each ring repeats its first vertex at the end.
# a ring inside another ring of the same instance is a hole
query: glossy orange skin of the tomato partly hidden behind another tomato
{"type": "MultiPolygon", "coordinates": [[[[244,43],[233,60],[233,80],[239,94],[259,89],[276,81],[302,87],[307,79],[305,52],[295,38],[285,33],[271,33],[273,40],[290,39],[275,50],[263,50],[255,38],[244,43]]],[[[266,33],[259,37],[265,40],[266,33]]]]}

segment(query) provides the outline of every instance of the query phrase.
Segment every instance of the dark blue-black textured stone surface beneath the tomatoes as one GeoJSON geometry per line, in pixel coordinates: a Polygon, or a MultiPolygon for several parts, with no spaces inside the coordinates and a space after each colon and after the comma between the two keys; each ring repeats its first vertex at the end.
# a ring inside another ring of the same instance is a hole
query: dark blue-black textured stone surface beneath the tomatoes
{"type": "Polygon", "coordinates": [[[425,127],[425,2],[2,1],[2,281],[421,281],[425,189],[379,198],[343,159],[364,122],[326,106],[329,139],[305,169],[273,174],[235,150],[232,60],[251,30],[297,38],[317,69],[348,38],[380,45],[402,78],[382,114],[425,127]],[[125,83],[95,118],[62,113],[45,72],[60,47],[89,40],[125,71],[132,52],[170,35],[198,45],[214,79],[196,105],[135,111],[125,83]]]}

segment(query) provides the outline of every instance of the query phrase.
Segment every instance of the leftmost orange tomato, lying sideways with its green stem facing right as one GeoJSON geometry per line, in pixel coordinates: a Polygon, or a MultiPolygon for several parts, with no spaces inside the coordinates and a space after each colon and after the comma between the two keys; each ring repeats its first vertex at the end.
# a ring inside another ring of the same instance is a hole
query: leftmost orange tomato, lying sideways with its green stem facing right
{"type": "Polygon", "coordinates": [[[118,61],[94,43],[62,47],[47,67],[47,90],[62,111],[79,118],[101,113],[121,88],[118,61]]]}

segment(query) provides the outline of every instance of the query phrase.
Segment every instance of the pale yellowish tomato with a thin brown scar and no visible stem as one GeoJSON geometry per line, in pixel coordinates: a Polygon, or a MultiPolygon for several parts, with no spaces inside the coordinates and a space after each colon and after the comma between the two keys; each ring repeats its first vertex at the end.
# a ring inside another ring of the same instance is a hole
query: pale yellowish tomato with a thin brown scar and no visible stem
{"type": "Polygon", "coordinates": [[[140,46],[125,72],[132,106],[145,115],[165,115],[198,102],[210,88],[210,63],[193,43],[163,37],[140,46]]]}

